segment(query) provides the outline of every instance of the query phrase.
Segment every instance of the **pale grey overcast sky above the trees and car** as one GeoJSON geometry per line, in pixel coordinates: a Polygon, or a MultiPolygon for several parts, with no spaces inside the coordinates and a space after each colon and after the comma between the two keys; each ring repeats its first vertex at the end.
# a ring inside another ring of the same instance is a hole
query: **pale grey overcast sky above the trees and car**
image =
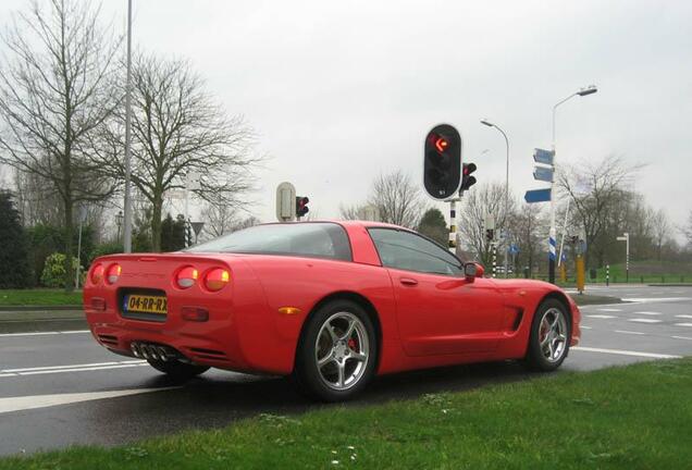
{"type": "MultiPolygon", "coordinates": [[[[27,1],[3,0],[0,18],[27,1]]],[[[104,12],[124,28],[126,0],[104,12]]],[[[256,212],[274,219],[275,187],[295,184],[321,218],[404,169],[420,182],[427,132],[460,131],[480,182],[530,188],[534,147],[557,159],[615,153],[647,163],[637,188],[682,224],[692,208],[690,1],[134,0],[135,47],[191,60],[271,156],[256,212]],[[484,149],[490,149],[481,157],[484,149]]],[[[438,205],[444,209],[443,205],[438,205]]],[[[446,213],[446,210],[444,211],[446,213]]]]}

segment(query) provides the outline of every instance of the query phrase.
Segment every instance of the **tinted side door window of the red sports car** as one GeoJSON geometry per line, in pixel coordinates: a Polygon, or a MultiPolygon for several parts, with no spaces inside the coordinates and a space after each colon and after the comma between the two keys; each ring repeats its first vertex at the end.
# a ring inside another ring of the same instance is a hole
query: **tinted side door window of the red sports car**
{"type": "Polygon", "coordinates": [[[382,264],[406,271],[459,275],[460,261],[440,245],[411,232],[370,228],[382,264]]]}

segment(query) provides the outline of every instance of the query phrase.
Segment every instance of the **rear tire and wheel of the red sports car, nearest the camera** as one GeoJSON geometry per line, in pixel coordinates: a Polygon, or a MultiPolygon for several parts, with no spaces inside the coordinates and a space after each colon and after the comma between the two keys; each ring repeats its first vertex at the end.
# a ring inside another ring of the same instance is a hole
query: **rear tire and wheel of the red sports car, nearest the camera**
{"type": "Polygon", "coordinates": [[[293,379],[312,398],[347,400],[374,375],[378,351],[374,326],[364,309],[350,300],[334,300],[308,320],[293,379]]]}

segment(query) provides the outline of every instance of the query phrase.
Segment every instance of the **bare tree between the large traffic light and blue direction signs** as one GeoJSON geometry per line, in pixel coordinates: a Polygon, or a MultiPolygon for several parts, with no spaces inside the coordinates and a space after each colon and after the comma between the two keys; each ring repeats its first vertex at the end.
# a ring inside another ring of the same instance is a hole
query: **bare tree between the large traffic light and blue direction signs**
{"type": "Polygon", "coordinates": [[[514,199],[509,199],[509,212],[505,209],[505,185],[503,183],[487,183],[468,191],[461,200],[459,211],[459,233],[461,245],[474,251],[481,262],[491,261],[491,245],[485,237],[485,217],[495,218],[495,226],[507,227],[506,221],[512,213],[514,199]]]}

